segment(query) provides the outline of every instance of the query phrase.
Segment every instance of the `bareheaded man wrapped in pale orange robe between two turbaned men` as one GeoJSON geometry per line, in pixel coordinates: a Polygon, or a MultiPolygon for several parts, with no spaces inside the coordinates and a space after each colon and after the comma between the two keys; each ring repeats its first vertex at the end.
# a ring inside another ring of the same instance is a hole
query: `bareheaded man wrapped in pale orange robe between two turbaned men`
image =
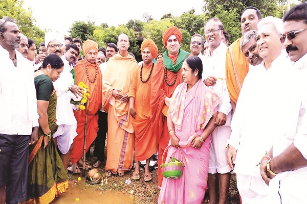
{"type": "Polygon", "coordinates": [[[105,171],[107,176],[131,169],[134,153],[134,130],[129,114],[129,87],[137,61],[128,54],[129,38],[118,36],[119,51],[107,62],[102,79],[102,108],[107,114],[105,171]]]}

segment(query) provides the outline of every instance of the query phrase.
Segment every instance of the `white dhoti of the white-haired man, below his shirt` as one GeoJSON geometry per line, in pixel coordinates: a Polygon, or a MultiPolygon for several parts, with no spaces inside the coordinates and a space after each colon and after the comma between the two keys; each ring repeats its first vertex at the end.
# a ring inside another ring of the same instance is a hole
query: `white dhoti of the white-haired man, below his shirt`
{"type": "Polygon", "coordinates": [[[269,187],[261,177],[237,173],[236,178],[243,204],[268,203],[269,187]]]}

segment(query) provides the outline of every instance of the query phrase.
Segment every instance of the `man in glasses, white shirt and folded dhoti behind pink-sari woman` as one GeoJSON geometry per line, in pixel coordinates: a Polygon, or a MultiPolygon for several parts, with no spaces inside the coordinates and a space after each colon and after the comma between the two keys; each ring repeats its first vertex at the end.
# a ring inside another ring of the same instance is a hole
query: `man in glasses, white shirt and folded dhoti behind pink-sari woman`
{"type": "Polygon", "coordinates": [[[227,163],[226,142],[230,137],[231,104],[225,81],[225,60],[227,46],[222,42],[224,25],[218,18],[211,18],[205,24],[205,36],[209,48],[203,57],[202,78],[207,86],[220,96],[222,102],[218,105],[218,114],[215,120],[215,130],[211,134],[210,159],[208,170],[209,200],[216,202],[215,176],[218,176],[220,187],[219,203],[226,203],[230,185],[230,167],[227,163]]]}

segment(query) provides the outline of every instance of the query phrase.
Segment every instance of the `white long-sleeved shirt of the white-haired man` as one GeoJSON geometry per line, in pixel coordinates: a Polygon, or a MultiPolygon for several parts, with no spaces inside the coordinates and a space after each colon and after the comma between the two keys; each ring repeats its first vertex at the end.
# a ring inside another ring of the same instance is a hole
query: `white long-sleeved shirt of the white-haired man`
{"type": "Polygon", "coordinates": [[[245,80],[231,122],[228,144],[237,149],[235,173],[260,176],[259,162],[273,145],[279,126],[276,116],[284,111],[286,82],[291,62],[280,55],[268,70],[264,62],[251,69],[245,80]],[[274,128],[273,128],[274,127],[274,128]]]}

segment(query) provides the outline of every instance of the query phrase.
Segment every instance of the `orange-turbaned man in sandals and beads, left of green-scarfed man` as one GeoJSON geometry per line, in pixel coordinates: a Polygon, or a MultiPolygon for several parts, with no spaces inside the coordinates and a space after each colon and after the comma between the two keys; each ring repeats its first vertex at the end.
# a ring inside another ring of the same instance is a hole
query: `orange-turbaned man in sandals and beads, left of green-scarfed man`
{"type": "Polygon", "coordinates": [[[144,181],[151,181],[149,171],[150,157],[158,150],[158,140],[151,129],[150,85],[153,61],[158,55],[158,47],[151,39],[144,39],[141,44],[143,63],[133,71],[129,90],[129,107],[132,125],[135,130],[136,168],[132,179],[140,180],[139,164],[146,160],[144,181]]]}

